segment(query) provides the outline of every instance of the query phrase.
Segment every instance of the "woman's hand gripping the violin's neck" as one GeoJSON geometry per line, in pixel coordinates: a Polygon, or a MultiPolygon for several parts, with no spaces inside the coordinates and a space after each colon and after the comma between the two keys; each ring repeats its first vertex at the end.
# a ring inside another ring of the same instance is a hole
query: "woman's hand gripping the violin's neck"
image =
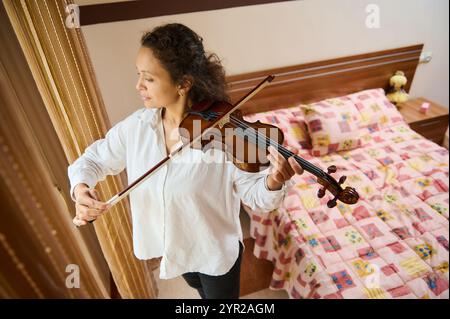
{"type": "MultiPolygon", "coordinates": [[[[291,152],[292,149],[288,148],[291,152]]],[[[267,158],[272,164],[272,171],[267,177],[267,187],[270,190],[279,190],[283,184],[292,178],[295,174],[303,174],[303,168],[294,159],[293,156],[287,160],[273,146],[268,147],[267,158]]]]}

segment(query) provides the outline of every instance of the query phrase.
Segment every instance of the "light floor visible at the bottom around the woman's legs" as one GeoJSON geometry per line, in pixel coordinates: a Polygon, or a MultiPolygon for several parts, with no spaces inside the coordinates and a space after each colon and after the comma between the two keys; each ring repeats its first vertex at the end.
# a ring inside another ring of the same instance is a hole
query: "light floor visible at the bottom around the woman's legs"
{"type": "MultiPolygon", "coordinates": [[[[249,237],[250,219],[244,211],[241,212],[241,225],[244,238],[249,237]]],[[[159,279],[159,268],[154,271],[155,280],[159,289],[159,299],[200,299],[199,294],[194,288],[191,288],[183,279],[177,277],[174,279],[159,279]]],[[[263,289],[249,295],[241,297],[242,299],[288,299],[289,296],[284,290],[263,289]]]]}

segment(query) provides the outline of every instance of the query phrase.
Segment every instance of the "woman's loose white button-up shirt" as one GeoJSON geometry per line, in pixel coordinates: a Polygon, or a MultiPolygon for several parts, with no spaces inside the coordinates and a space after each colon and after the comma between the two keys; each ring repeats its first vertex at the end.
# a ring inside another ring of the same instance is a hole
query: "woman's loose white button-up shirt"
{"type": "MultiPolygon", "coordinates": [[[[68,168],[72,199],[79,183],[93,188],[124,168],[132,183],[165,158],[161,110],[137,110],[86,148],[68,168]]],[[[240,170],[220,150],[186,148],[129,195],[135,256],[162,256],[162,279],[186,272],[227,273],[243,242],[240,201],[264,213],[286,194],[286,185],[270,191],[266,178],[267,170],[240,170]]]]}

